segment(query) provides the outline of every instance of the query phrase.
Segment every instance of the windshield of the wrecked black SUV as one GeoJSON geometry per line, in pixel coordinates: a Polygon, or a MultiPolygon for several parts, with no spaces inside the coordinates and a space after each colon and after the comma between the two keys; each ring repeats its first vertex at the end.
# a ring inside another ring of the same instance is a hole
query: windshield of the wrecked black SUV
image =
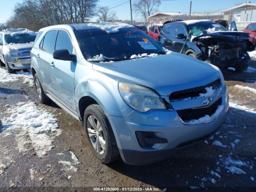
{"type": "Polygon", "coordinates": [[[191,30],[193,36],[200,36],[217,31],[227,31],[226,28],[215,22],[200,22],[188,25],[188,31],[191,30]]]}

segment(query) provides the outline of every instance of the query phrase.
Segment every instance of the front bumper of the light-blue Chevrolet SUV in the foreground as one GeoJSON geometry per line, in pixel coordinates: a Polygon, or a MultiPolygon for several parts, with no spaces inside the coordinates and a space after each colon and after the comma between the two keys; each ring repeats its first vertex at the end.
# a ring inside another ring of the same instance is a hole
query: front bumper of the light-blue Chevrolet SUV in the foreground
{"type": "Polygon", "coordinates": [[[190,146],[211,136],[228,116],[228,96],[223,94],[223,111],[211,122],[203,124],[183,124],[175,110],[133,111],[126,117],[110,116],[108,120],[114,131],[122,160],[127,164],[150,164],[163,160],[173,152],[190,146]],[[154,132],[158,138],[165,138],[167,143],[154,144],[142,148],[137,140],[136,131],[154,132]]]}

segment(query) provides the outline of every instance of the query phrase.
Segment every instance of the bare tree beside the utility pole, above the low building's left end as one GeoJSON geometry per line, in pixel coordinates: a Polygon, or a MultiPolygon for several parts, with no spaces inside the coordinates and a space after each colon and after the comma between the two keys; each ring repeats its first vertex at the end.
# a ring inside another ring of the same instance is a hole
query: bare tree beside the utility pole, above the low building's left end
{"type": "Polygon", "coordinates": [[[160,0],[139,0],[133,4],[133,10],[136,14],[146,18],[157,12],[160,4],[160,0]]]}

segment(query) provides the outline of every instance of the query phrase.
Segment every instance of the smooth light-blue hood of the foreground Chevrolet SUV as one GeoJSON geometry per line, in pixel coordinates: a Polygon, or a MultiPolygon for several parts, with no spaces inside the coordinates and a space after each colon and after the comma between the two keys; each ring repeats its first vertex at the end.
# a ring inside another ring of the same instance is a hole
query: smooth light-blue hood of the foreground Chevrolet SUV
{"type": "Polygon", "coordinates": [[[162,96],[206,85],[219,78],[210,64],[172,52],[156,57],[94,63],[93,68],[111,78],[156,90],[162,96]]]}

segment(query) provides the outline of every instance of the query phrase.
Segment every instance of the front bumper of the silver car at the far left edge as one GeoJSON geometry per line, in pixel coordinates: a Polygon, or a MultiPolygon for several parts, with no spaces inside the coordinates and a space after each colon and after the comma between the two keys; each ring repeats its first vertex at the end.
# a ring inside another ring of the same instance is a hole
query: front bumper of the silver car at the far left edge
{"type": "Polygon", "coordinates": [[[8,54],[5,55],[5,59],[8,62],[11,69],[30,69],[30,54],[24,54],[20,56],[8,54]],[[15,59],[15,62],[13,61],[13,59],[15,59]]]}

